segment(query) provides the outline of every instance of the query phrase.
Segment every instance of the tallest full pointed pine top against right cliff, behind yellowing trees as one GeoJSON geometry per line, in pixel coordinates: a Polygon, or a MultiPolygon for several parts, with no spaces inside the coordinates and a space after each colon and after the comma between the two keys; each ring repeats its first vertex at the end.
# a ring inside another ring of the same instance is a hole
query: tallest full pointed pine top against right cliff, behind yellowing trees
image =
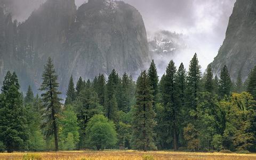
{"type": "Polygon", "coordinates": [[[228,73],[228,68],[225,65],[221,70],[219,81],[219,95],[221,98],[225,97],[225,95],[229,96],[231,94],[231,86],[232,82],[228,73]]]}

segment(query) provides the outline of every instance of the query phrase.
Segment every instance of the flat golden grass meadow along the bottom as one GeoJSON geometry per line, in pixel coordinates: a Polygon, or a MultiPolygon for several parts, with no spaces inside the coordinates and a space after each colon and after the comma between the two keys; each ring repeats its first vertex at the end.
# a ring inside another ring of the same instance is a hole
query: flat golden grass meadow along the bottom
{"type": "MultiPolygon", "coordinates": [[[[60,151],[45,153],[1,153],[0,159],[24,159],[25,156],[35,156],[35,159],[80,159],[80,160],[155,160],[155,159],[256,159],[256,154],[223,154],[223,153],[186,153],[174,151],[60,151]]],[[[32,159],[32,158],[31,158],[32,159]]]]}

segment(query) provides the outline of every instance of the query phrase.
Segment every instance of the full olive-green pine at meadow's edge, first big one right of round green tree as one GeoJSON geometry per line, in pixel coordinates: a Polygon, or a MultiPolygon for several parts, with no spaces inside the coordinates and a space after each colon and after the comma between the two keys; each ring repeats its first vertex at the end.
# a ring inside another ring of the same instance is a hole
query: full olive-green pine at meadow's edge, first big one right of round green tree
{"type": "Polygon", "coordinates": [[[136,105],[133,113],[133,146],[135,149],[147,151],[154,149],[153,141],[155,112],[153,109],[153,91],[146,70],[137,80],[136,105]]]}

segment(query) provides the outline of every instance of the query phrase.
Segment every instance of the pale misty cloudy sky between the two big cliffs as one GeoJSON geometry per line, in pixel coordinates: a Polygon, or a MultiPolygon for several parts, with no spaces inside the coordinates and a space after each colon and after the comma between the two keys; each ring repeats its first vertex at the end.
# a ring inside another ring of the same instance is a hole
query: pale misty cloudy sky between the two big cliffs
{"type": "MultiPolygon", "coordinates": [[[[222,44],[235,0],[124,0],[142,14],[148,34],[170,30],[188,36],[189,49],[174,57],[188,67],[196,52],[204,70],[222,44]]],[[[85,0],[76,0],[77,6],[85,0]]]]}

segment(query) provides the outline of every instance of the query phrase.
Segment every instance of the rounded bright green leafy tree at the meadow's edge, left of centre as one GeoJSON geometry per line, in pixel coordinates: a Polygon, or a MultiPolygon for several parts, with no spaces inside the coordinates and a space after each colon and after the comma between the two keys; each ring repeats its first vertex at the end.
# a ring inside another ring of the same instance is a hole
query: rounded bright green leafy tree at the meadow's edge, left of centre
{"type": "Polygon", "coordinates": [[[86,144],[93,149],[114,147],[117,142],[115,124],[103,115],[93,116],[86,127],[86,144]]]}

